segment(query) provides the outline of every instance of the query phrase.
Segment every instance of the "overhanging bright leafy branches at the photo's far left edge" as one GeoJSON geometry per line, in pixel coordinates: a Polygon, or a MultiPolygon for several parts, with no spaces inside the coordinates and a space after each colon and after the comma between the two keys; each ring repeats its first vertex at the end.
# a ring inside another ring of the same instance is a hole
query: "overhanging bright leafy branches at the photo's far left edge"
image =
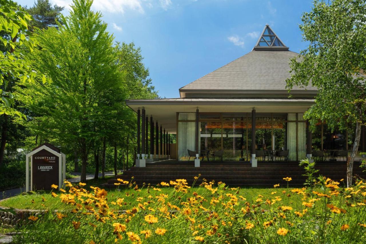
{"type": "MultiPolygon", "coordinates": [[[[30,103],[26,93],[18,92],[22,85],[33,82],[36,72],[31,68],[28,53],[36,43],[29,31],[31,15],[10,0],[0,0],[0,165],[3,163],[8,127],[12,117],[25,115],[18,110],[19,103],[30,103]]],[[[46,82],[46,77],[42,76],[46,82]]]]}

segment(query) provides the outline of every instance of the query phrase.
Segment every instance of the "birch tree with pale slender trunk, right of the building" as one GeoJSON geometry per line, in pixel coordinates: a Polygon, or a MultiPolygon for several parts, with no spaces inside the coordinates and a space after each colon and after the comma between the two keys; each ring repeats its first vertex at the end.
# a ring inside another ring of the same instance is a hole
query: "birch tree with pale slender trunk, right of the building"
{"type": "Polygon", "coordinates": [[[366,3],[364,0],[315,0],[302,16],[303,40],[309,46],[291,60],[293,86],[318,88],[315,104],[305,113],[314,129],[320,119],[331,129],[355,125],[355,139],[347,161],[347,186],[365,125],[366,3]]]}

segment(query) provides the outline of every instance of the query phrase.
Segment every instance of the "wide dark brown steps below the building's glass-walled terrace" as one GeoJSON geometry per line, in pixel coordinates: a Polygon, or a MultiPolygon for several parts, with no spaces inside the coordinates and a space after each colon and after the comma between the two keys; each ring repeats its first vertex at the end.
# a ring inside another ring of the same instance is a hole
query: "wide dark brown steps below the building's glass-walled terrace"
{"type": "MultiPolygon", "coordinates": [[[[134,180],[137,184],[142,183],[158,184],[162,181],[169,182],[176,179],[186,179],[188,184],[192,184],[194,177],[201,174],[198,184],[205,178],[208,181],[222,181],[229,186],[263,186],[273,187],[274,184],[287,186],[283,180],[291,177],[291,186],[300,186],[306,177],[303,167],[298,162],[259,162],[258,167],[251,167],[249,162],[203,162],[201,167],[194,167],[193,162],[175,162],[175,160],[165,160],[161,162],[149,163],[146,167],[132,167],[125,171],[118,178],[123,180],[134,180]]],[[[366,178],[366,172],[362,172],[359,162],[354,163],[354,176],[366,178]]],[[[346,162],[320,162],[317,163],[318,174],[329,177],[332,180],[346,180],[346,162]]],[[[113,186],[117,180],[109,180],[108,185],[113,186]]]]}

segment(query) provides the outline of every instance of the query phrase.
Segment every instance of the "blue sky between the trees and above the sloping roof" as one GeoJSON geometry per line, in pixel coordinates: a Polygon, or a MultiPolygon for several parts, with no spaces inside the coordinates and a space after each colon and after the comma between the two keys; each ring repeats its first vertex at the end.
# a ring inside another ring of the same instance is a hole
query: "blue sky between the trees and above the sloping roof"
{"type": "MultiPolygon", "coordinates": [[[[18,0],[33,5],[34,0],[18,0]]],[[[72,0],[50,0],[67,6],[72,0]]],[[[306,47],[298,24],[311,0],[94,0],[116,41],[141,47],[161,97],[248,53],[266,23],[291,51],[306,47]]]]}

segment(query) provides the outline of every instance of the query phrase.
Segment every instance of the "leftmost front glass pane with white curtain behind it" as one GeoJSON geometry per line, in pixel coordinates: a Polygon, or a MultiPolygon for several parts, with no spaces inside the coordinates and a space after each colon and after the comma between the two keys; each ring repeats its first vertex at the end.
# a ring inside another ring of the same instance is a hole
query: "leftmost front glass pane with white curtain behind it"
{"type": "Polygon", "coordinates": [[[178,160],[188,160],[188,150],[195,151],[195,122],[178,122],[178,160]]]}

